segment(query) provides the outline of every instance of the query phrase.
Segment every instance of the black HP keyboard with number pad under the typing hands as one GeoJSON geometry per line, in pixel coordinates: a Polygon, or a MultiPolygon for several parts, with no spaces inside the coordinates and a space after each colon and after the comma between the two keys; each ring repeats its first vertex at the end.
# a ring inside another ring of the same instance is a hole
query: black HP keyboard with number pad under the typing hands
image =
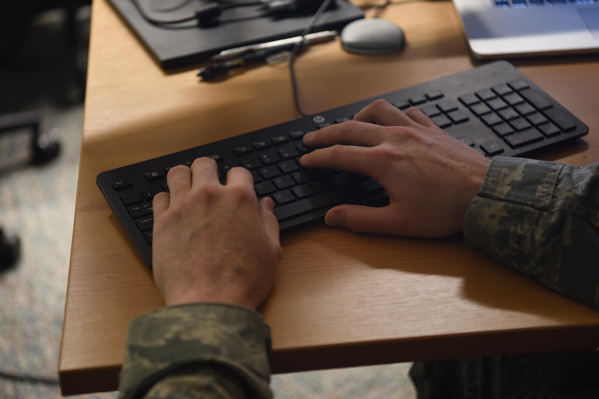
{"type": "Polygon", "coordinates": [[[240,136],[98,174],[102,195],[152,266],[152,199],[168,192],[167,173],[201,156],[217,161],[221,183],[237,166],[254,177],[258,198],[274,199],[281,231],[322,220],[338,204],[388,200],[370,177],[338,170],[308,170],[304,133],[347,121],[377,99],[401,110],[417,106],[438,126],[485,156],[521,155],[587,134],[589,128],[510,63],[497,61],[240,136]]]}

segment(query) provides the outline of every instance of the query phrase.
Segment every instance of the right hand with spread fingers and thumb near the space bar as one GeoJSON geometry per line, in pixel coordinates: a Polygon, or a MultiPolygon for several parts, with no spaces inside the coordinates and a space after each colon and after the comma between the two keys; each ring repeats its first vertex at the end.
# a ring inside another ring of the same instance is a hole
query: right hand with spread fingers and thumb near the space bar
{"type": "Polygon", "coordinates": [[[353,121],[306,134],[304,143],[328,147],[302,156],[302,166],[365,173],[388,192],[387,207],[339,205],[328,211],[326,224],[355,232],[412,237],[461,232],[491,163],[418,108],[404,113],[385,100],[362,109],[353,121]]]}

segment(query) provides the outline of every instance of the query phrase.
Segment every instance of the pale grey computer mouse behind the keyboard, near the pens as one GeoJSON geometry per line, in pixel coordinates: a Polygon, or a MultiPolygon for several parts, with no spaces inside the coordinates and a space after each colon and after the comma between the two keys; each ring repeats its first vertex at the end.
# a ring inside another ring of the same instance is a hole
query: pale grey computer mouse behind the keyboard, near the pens
{"type": "Polygon", "coordinates": [[[394,53],[403,50],[405,42],[401,27],[384,19],[359,19],[350,22],[341,31],[341,44],[350,53],[394,53]]]}

